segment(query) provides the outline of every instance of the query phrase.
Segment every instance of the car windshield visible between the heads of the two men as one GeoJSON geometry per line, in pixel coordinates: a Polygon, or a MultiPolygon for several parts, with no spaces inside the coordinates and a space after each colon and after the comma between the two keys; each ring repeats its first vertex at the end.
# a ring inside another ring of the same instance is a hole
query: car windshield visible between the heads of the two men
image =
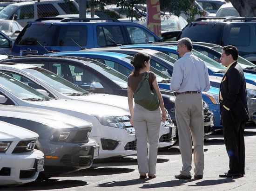
{"type": "Polygon", "coordinates": [[[220,71],[224,72],[224,70],[226,70],[225,66],[222,66],[220,63],[218,63],[217,61],[209,58],[208,56],[205,56],[204,54],[202,54],[198,51],[195,51],[195,50],[192,50],[192,52],[196,57],[201,58],[205,62],[205,64],[207,65],[207,68],[209,68],[213,72],[220,72],[220,71]]]}

